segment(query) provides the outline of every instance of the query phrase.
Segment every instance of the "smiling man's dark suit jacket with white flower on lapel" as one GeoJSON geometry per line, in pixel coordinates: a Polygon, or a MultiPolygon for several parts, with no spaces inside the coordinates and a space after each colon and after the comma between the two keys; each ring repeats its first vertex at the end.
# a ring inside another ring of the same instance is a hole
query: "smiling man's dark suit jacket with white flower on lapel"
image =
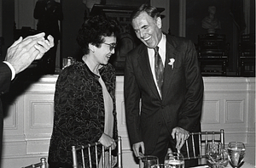
{"type": "Polygon", "coordinates": [[[166,35],[162,99],[154,83],[148,50],[144,44],[127,54],[124,90],[126,125],[131,145],[144,142],[150,154],[164,123],[170,132],[175,126],[189,132],[201,131],[204,88],[197,53],[191,41],[166,35]],[[168,64],[170,59],[175,59],[173,69],[168,64]]]}

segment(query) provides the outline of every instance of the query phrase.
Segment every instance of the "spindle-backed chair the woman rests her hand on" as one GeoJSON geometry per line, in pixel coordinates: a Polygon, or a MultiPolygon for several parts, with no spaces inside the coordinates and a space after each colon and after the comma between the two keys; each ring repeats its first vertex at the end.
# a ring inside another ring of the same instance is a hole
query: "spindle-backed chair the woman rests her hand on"
{"type": "MultiPolygon", "coordinates": [[[[122,165],[122,139],[121,139],[121,137],[119,136],[118,139],[115,140],[115,142],[117,143],[116,148],[118,150],[118,153],[117,153],[117,159],[118,159],[117,167],[122,168],[123,165],[122,165]]],[[[106,163],[106,161],[104,160],[105,159],[104,146],[102,146],[101,143],[91,143],[91,144],[87,144],[87,145],[79,146],[79,147],[72,146],[73,168],[79,168],[78,154],[77,154],[78,151],[81,151],[83,168],[85,168],[84,152],[87,152],[88,155],[89,155],[90,168],[92,168],[92,157],[96,158],[96,167],[98,167],[98,164],[99,164],[99,161],[100,161],[100,158],[97,157],[98,153],[97,153],[97,150],[96,150],[96,147],[98,147],[98,146],[102,147],[102,158],[103,158],[102,167],[105,167],[106,164],[112,165],[112,162],[113,162],[112,157],[111,157],[112,149],[111,148],[108,149],[109,157],[108,157],[108,163],[106,163]],[[93,154],[95,156],[92,156],[92,153],[91,153],[91,151],[93,150],[92,148],[95,150],[95,154],[93,154]]]]}

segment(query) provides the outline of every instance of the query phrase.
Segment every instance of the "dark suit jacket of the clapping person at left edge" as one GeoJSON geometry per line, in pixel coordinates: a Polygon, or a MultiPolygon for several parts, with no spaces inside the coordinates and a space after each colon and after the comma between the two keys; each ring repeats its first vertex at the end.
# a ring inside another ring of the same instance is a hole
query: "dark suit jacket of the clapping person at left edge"
{"type": "MultiPolygon", "coordinates": [[[[9,91],[11,76],[12,76],[12,73],[11,73],[11,70],[9,69],[9,66],[1,62],[0,63],[0,97],[3,95],[3,93],[9,91]]],[[[1,164],[1,154],[2,154],[2,142],[3,142],[3,105],[0,99],[0,164],[1,164]]]]}

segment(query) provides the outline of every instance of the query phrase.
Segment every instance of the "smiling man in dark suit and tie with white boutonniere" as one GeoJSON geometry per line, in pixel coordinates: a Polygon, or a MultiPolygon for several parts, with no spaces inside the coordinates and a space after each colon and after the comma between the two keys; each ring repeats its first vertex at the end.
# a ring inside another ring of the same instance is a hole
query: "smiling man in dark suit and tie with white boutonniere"
{"type": "Polygon", "coordinates": [[[131,25],[143,43],[126,57],[126,125],[134,154],[155,155],[163,163],[168,148],[185,154],[189,132],[201,131],[201,70],[191,41],[162,33],[157,8],[143,4],[131,15],[131,25]],[[155,74],[154,55],[162,60],[158,67],[164,66],[161,76],[155,74]]]}

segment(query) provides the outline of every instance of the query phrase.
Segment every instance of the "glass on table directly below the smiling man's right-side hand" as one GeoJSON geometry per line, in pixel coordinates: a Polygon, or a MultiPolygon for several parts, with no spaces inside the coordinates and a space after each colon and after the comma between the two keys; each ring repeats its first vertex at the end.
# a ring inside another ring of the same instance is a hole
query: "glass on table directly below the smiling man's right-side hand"
{"type": "Polygon", "coordinates": [[[166,154],[165,164],[168,165],[167,167],[172,168],[184,168],[185,161],[183,154],[170,152],[166,154]]]}

